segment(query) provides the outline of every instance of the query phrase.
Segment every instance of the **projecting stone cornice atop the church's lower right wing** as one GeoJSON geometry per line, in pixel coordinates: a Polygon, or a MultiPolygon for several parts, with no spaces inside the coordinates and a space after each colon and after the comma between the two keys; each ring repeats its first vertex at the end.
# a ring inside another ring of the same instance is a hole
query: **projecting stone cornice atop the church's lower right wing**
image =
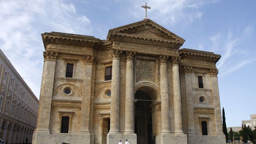
{"type": "Polygon", "coordinates": [[[206,61],[214,61],[215,63],[220,59],[219,54],[214,54],[213,52],[205,52],[200,50],[191,50],[191,49],[180,49],[179,55],[182,58],[191,58],[191,59],[200,59],[206,61]]]}

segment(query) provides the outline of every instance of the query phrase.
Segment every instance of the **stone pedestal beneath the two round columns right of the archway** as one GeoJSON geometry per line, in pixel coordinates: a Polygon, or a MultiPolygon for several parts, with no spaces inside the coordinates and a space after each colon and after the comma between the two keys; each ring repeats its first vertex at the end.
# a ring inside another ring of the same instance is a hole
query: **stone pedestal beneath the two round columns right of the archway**
{"type": "Polygon", "coordinates": [[[187,135],[179,134],[161,134],[160,135],[160,144],[188,144],[187,143],[187,135]]]}

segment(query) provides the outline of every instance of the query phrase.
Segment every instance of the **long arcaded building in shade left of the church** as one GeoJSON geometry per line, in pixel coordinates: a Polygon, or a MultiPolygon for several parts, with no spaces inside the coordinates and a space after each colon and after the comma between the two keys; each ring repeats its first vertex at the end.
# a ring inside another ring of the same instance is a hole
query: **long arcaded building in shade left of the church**
{"type": "Polygon", "coordinates": [[[38,99],[0,50],[0,138],[7,144],[31,143],[38,99]]]}

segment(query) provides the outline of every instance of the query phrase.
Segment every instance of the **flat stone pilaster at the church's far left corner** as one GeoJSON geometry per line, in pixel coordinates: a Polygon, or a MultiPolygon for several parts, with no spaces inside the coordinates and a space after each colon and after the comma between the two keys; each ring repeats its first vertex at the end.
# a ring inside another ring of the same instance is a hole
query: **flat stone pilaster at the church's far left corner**
{"type": "Polygon", "coordinates": [[[47,51],[43,53],[43,76],[41,82],[40,101],[35,133],[43,132],[46,134],[50,134],[50,109],[53,94],[53,81],[57,55],[57,52],[47,51]]]}

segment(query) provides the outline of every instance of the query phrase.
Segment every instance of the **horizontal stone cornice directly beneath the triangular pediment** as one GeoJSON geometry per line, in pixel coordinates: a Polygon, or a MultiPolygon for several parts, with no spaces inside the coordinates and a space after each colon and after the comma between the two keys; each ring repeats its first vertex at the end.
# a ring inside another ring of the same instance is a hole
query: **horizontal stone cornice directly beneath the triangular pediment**
{"type": "Polygon", "coordinates": [[[124,42],[139,43],[144,45],[168,47],[173,49],[179,49],[179,47],[183,45],[182,42],[179,42],[176,40],[151,38],[151,37],[145,37],[145,36],[139,36],[139,35],[126,34],[126,33],[111,33],[110,40],[111,42],[124,41],[124,42]]]}

